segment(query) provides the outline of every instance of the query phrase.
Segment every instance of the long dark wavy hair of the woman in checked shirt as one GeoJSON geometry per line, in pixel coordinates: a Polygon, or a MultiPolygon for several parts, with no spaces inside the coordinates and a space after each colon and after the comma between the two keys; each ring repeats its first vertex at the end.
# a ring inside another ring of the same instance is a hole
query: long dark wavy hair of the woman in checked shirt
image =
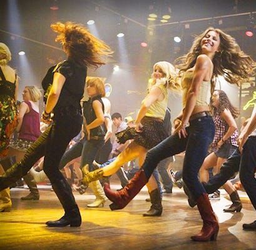
{"type": "Polygon", "coordinates": [[[240,114],[239,109],[235,108],[231,103],[230,99],[228,99],[227,94],[223,90],[215,90],[218,92],[218,106],[215,107],[212,105],[212,99],[210,106],[213,111],[213,115],[220,114],[224,111],[224,109],[229,109],[230,113],[232,114],[233,118],[237,118],[240,114]]]}

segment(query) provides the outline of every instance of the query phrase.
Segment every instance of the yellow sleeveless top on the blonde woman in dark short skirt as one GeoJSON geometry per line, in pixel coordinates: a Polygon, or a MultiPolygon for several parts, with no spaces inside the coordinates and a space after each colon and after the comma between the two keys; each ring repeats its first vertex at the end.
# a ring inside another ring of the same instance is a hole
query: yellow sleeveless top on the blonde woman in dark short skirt
{"type": "MultiPolygon", "coordinates": [[[[156,85],[153,85],[156,86],[156,85]]],[[[155,103],[150,105],[150,108],[148,111],[146,111],[145,116],[148,117],[153,117],[153,118],[160,118],[164,119],[165,118],[165,112],[167,108],[167,103],[168,103],[168,91],[163,84],[157,85],[158,88],[161,89],[161,92],[163,93],[163,100],[162,101],[155,101],[155,103]]]]}

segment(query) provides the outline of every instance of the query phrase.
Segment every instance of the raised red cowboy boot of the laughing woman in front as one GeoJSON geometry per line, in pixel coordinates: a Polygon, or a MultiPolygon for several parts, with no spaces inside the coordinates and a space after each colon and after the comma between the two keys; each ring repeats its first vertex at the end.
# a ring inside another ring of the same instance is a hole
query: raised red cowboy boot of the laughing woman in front
{"type": "Polygon", "coordinates": [[[104,191],[106,197],[108,197],[110,201],[113,201],[113,203],[110,205],[110,209],[116,210],[125,207],[133,199],[133,197],[140,192],[140,189],[145,186],[147,182],[148,178],[146,178],[143,169],[140,169],[135,176],[130,179],[129,183],[120,191],[113,192],[110,189],[110,185],[105,184],[104,191]]]}

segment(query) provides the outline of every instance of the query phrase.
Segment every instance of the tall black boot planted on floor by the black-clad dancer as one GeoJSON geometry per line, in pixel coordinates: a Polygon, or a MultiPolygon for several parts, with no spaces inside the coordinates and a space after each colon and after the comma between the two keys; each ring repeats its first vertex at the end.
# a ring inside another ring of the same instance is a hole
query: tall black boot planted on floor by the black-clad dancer
{"type": "Polygon", "coordinates": [[[64,227],[64,226],[80,226],[81,225],[81,215],[79,208],[76,205],[71,187],[67,183],[66,179],[59,179],[51,183],[54,192],[61,202],[65,214],[63,217],[57,221],[48,221],[46,225],[49,227],[64,227]]]}

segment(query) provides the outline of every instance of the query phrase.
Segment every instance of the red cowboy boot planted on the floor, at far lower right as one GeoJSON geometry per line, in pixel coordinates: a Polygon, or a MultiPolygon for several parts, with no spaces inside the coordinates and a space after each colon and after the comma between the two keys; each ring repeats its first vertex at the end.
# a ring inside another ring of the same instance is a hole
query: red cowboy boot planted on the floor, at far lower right
{"type": "Polygon", "coordinates": [[[203,219],[203,227],[199,234],[192,236],[193,241],[215,241],[218,235],[218,221],[215,216],[208,194],[202,194],[197,199],[197,207],[203,219]]]}

